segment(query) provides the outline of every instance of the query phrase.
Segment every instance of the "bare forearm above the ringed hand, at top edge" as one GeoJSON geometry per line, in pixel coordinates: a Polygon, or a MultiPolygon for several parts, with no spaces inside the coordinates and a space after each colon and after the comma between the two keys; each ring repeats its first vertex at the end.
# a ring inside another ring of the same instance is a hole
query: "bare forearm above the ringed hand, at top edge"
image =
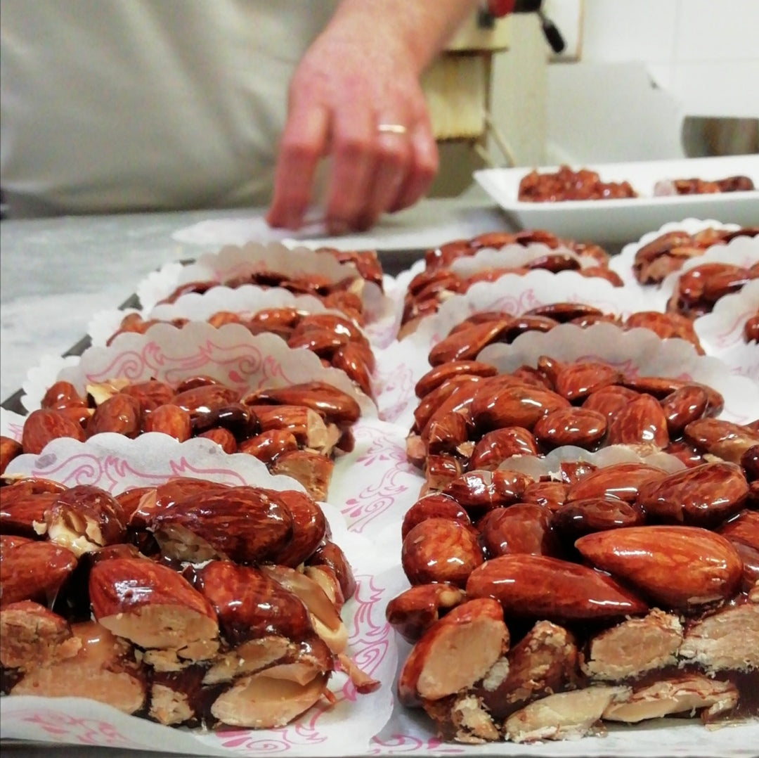
{"type": "Polygon", "coordinates": [[[478,5],[480,0],[342,0],[329,26],[392,39],[408,50],[420,74],[478,5]]]}

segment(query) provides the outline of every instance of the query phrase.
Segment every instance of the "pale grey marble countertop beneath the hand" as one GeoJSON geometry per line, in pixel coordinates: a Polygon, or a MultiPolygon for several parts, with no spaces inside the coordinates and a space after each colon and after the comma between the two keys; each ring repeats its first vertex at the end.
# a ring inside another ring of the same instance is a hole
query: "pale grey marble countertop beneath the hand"
{"type": "MultiPolygon", "coordinates": [[[[66,352],[87,333],[93,314],[120,305],[162,264],[217,251],[257,232],[261,241],[282,238],[266,227],[262,213],[200,210],[2,221],[0,400],[21,387],[42,355],[66,352]]],[[[475,191],[423,201],[346,242],[419,248],[509,228],[492,201],[475,191]]]]}

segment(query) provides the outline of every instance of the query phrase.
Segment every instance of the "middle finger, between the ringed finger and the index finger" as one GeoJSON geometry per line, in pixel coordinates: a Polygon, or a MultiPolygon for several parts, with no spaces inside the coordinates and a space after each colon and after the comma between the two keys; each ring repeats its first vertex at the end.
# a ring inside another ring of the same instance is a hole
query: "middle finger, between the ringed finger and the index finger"
{"type": "Polygon", "coordinates": [[[374,114],[355,108],[335,116],[332,171],[327,184],[326,223],[332,234],[360,228],[377,150],[374,114]]]}

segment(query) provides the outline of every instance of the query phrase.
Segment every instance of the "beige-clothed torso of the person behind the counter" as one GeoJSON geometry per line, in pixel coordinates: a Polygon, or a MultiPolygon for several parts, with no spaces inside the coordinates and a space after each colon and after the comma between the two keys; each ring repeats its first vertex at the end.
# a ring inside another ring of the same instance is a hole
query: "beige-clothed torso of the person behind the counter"
{"type": "MultiPolygon", "coordinates": [[[[332,0],[2,0],[2,188],[43,212],[261,204],[332,0]]],[[[23,210],[23,209],[22,209],[23,210]]]]}

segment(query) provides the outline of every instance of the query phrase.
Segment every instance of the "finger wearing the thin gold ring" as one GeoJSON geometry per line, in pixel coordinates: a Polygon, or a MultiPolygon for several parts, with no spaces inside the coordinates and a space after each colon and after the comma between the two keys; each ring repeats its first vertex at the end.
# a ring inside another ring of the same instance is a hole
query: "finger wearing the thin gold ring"
{"type": "MultiPolygon", "coordinates": [[[[383,119],[383,123],[402,122],[383,119]]],[[[379,215],[389,210],[395,202],[398,191],[405,183],[413,156],[408,132],[383,131],[378,134],[373,180],[360,219],[363,228],[372,226],[379,215]]]]}

